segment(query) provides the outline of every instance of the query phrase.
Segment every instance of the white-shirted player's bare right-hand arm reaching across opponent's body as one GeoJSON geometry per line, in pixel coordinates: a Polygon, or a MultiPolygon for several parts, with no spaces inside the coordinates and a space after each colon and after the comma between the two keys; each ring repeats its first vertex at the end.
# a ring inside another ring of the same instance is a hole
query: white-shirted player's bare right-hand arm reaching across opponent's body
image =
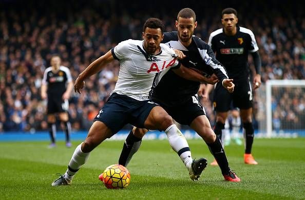
{"type": "Polygon", "coordinates": [[[180,76],[184,79],[190,80],[190,81],[204,82],[204,83],[209,83],[209,84],[215,84],[219,81],[216,76],[213,76],[213,77],[211,76],[210,78],[206,78],[201,73],[199,73],[193,69],[184,67],[183,65],[181,65],[178,69],[173,69],[173,71],[178,76],[180,76]]]}

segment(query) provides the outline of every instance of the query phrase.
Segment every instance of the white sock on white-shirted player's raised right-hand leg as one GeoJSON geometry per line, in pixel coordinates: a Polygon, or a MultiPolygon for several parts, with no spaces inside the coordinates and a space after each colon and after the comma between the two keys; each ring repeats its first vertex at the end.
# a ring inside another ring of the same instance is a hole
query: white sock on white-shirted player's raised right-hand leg
{"type": "Polygon", "coordinates": [[[184,137],[184,135],[181,133],[181,131],[177,128],[175,124],[170,125],[166,130],[165,133],[167,135],[169,144],[171,148],[179,155],[180,150],[183,150],[187,148],[187,151],[182,152],[179,156],[181,160],[183,161],[185,167],[187,169],[190,168],[192,165],[192,155],[190,154],[188,143],[184,137]]]}

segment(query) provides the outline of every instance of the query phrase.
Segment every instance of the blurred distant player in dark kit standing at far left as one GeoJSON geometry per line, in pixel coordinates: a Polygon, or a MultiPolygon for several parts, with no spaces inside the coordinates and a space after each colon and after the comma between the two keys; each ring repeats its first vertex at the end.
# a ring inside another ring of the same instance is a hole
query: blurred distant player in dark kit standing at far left
{"type": "Polygon", "coordinates": [[[56,114],[58,114],[59,119],[65,125],[66,147],[71,147],[71,124],[67,111],[72,89],[73,81],[69,68],[61,65],[61,58],[59,56],[53,56],[51,58],[51,66],[46,68],[44,72],[41,87],[42,99],[48,99],[47,121],[51,138],[49,148],[55,147],[56,114]]]}

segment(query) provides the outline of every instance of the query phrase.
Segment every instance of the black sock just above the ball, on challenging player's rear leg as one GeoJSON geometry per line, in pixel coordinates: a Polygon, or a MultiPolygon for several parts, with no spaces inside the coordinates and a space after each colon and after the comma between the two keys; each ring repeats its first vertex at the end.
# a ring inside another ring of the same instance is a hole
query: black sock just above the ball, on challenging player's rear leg
{"type": "Polygon", "coordinates": [[[125,167],[128,165],[132,156],[139,150],[141,142],[142,139],[134,136],[131,130],[124,142],[123,149],[119,158],[119,165],[125,167]]]}

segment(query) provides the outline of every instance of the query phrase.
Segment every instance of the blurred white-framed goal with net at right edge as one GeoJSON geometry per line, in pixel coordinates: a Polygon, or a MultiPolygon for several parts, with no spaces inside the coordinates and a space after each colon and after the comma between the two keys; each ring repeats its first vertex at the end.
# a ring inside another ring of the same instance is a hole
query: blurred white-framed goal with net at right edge
{"type": "Polygon", "coordinates": [[[305,136],[305,80],[267,81],[265,102],[267,137],[305,136]]]}

